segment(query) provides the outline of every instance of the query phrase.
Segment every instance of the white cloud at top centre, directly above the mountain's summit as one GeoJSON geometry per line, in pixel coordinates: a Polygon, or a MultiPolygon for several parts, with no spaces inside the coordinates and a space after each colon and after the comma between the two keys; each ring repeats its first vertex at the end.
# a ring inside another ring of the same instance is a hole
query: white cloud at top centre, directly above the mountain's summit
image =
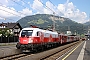
{"type": "Polygon", "coordinates": [[[53,4],[51,4],[49,1],[47,1],[46,4],[42,4],[42,2],[39,0],[33,1],[32,9],[37,11],[36,14],[53,14],[52,11],[55,10],[53,8],[53,4]],[[52,9],[52,11],[50,9],[52,9]]]}

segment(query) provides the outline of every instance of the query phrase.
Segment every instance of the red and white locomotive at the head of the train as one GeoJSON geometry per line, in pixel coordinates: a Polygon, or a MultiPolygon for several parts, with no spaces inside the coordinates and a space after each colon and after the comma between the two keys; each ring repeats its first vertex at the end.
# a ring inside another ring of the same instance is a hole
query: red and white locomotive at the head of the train
{"type": "Polygon", "coordinates": [[[19,35],[19,42],[16,47],[22,50],[34,50],[42,46],[59,44],[57,32],[43,30],[39,28],[24,28],[19,35]]]}

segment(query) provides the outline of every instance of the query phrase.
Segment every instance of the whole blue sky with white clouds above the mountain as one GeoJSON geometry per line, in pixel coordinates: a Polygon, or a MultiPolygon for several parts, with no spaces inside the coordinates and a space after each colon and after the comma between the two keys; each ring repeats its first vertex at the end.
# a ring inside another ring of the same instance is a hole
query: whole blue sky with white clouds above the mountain
{"type": "Polygon", "coordinates": [[[35,14],[54,14],[78,23],[90,20],[90,0],[0,0],[0,23],[35,14]]]}

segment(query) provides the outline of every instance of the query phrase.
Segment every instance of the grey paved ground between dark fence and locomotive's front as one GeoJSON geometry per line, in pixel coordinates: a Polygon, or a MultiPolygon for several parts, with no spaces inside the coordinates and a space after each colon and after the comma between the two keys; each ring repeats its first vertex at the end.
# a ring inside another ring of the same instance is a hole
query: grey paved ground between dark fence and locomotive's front
{"type": "Polygon", "coordinates": [[[0,43],[0,58],[21,53],[20,50],[16,48],[17,43],[0,43]]]}

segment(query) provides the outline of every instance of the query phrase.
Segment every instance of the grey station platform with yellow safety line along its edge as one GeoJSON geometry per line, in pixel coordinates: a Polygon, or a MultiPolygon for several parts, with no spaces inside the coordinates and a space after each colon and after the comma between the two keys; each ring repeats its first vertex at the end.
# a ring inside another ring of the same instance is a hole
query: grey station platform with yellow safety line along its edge
{"type": "Polygon", "coordinates": [[[83,41],[58,60],[90,60],[90,40],[83,41]]]}

